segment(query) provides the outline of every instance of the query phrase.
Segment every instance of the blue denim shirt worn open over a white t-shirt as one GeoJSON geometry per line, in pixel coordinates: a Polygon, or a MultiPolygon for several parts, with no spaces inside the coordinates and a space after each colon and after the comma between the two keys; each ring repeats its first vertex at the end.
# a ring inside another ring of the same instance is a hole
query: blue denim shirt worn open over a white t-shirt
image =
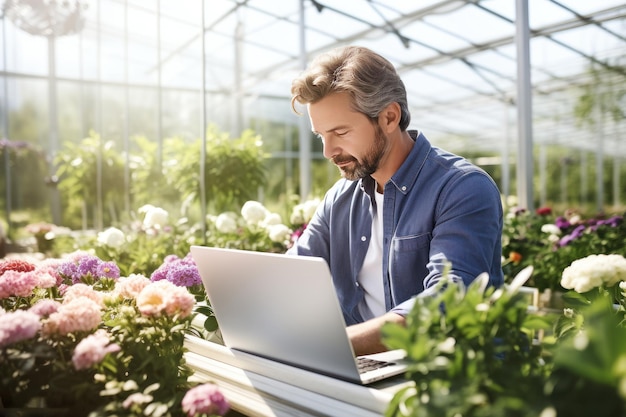
{"type": "MultiPolygon", "coordinates": [[[[409,133],[415,145],[385,184],[383,203],[385,305],[401,315],[410,311],[413,297],[437,284],[447,262],[450,276],[465,285],[483,272],[491,285],[503,283],[498,187],[467,160],[409,133]]],[[[347,325],[363,321],[357,277],[369,246],[375,187],[369,176],[340,179],[289,251],[326,260],[347,325]]]]}

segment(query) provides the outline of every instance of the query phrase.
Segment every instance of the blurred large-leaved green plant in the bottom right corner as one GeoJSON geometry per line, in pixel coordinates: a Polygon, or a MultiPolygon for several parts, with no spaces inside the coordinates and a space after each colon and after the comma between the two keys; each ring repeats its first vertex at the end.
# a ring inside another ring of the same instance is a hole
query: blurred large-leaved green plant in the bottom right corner
{"type": "Polygon", "coordinates": [[[607,292],[576,306],[557,322],[560,338],[551,348],[554,368],[546,394],[558,415],[624,416],[626,327],[607,292]]]}

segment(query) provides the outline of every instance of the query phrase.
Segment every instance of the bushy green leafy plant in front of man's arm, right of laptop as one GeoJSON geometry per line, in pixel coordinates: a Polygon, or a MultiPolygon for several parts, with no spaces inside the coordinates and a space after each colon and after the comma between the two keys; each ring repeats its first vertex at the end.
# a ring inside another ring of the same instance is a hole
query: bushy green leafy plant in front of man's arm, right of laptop
{"type": "Polygon", "coordinates": [[[417,298],[406,326],[388,324],[384,341],[405,349],[412,382],[398,392],[387,416],[537,416],[545,408],[546,368],[533,334],[550,327],[530,315],[515,291],[467,292],[447,283],[417,298]]]}

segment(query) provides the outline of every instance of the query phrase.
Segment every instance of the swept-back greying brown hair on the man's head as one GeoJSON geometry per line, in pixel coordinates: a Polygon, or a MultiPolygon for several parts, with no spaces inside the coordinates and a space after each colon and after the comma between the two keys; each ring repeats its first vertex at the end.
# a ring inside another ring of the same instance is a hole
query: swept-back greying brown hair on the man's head
{"type": "Polygon", "coordinates": [[[291,84],[291,108],[315,103],[332,93],[347,92],[355,111],[370,119],[378,117],[391,103],[402,112],[400,129],[406,130],[411,114],[406,89],[391,62],[370,49],[348,46],[318,56],[291,84]]]}

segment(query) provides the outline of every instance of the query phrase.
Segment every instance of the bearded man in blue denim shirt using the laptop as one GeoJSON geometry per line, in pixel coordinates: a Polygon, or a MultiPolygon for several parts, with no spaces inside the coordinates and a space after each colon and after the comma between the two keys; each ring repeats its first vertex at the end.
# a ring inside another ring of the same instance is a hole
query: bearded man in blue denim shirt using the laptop
{"type": "Polygon", "coordinates": [[[502,284],[496,184],[407,130],[406,90],[390,62],[362,47],[336,49],[291,93],[343,178],[290,253],[328,262],[357,355],[385,350],[381,326],[404,323],[413,297],[432,291],[446,266],[465,285],[483,272],[502,284]]]}

